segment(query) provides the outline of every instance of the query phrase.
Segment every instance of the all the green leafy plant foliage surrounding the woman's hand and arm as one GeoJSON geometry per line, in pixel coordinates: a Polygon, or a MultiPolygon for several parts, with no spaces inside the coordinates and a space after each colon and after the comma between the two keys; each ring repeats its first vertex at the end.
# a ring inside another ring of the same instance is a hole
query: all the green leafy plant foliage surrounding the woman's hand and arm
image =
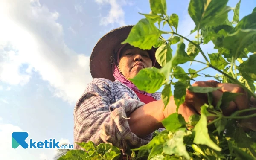
{"type": "MultiPolygon", "coordinates": [[[[185,122],[178,113],[164,119],[162,123],[166,130],[155,132],[154,138],[147,145],[131,149],[127,153],[129,157],[132,160],[255,160],[256,134],[246,133],[240,127],[240,121],[256,116],[243,114],[256,108],[224,116],[222,110],[238,94],[225,92],[213,107],[211,93],[218,88],[192,87],[190,81],[201,76],[200,71],[212,68],[220,75],[205,77],[213,77],[222,83],[238,84],[248,95],[256,97],[256,54],[253,54],[256,53],[256,8],[251,14],[240,18],[241,0],[234,8],[227,6],[228,0],[190,0],[188,12],[195,23],[191,33],[195,32],[196,37],[189,40],[177,33],[179,17],[175,13],[167,15],[166,0],[149,2],[151,13],[140,13],[145,18],[131,29],[122,44],[129,43],[140,49],[157,47],[156,59],[162,68],[145,68],[130,80],[140,90],[149,93],[154,93],[164,85],[162,99],[165,106],[172,96],[171,87],[174,88],[173,96],[177,106],[185,101],[186,90],[207,94],[208,104],[201,107],[201,115],[189,117],[189,122],[185,122]],[[234,13],[231,22],[228,19],[230,11],[234,13]],[[161,24],[169,25],[170,31],[161,30],[161,24]],[[160,35],[170,36],[165,39],[160,35]],[[189,42],[187,49],[184,41],[189,42]],[[208,59],[200,45],[210,41],[218,52],[208,54],[208,59]],[[177,49],[173,55],[172,45],[175,44],[177,49]],[[204,57],[204,62],[195,59],[198,54],[204,57]],[[187,62],[201,63],[205,67],[197,71],[190,68],[186,73],[179,65],[187,62]],[[208,117],[215,119],[208,122],[208,117]]],[[[119,149],[107,143],[98,146],[92,142],[78,144],[85,151],[69,151],[59,160],[116,160],[120,156],[119,149]]]]}

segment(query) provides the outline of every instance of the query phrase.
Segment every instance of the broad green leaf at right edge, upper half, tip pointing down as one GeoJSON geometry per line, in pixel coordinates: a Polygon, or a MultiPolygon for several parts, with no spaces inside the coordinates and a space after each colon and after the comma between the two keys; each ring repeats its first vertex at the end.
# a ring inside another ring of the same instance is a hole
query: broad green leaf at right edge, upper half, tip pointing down
{"type": "MultiPolygon", "coordinates": [[[[241,22],[241,21],[240,21],[241,22]]],[[[239,22],[239,23],[240,23],[239,22]]],[[[228,34],[223,40],[223,47],[230,50],[230,55],[235,59],[239,58],[244,48],[247,48],[256,41],[256,29],[239,29],[228,34]]]]}

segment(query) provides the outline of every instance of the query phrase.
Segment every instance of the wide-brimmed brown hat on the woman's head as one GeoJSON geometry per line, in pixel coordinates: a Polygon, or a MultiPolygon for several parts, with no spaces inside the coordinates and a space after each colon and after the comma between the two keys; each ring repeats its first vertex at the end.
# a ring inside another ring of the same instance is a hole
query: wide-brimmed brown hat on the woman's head
{"type": "MultiPolygon", "coordinates": [[[[111,58],[122,46],[122,42],[128,37],[134,25],[122,26],[105,34],[95,47],[90,56],[90,73],[93,78],[105,78],[115,81],[111,70],[111,58]]],[[[157,48],[154,48],[156,50],[157,48]]],[[[156,62],[156,68],[161,66],[156,62]]]]}

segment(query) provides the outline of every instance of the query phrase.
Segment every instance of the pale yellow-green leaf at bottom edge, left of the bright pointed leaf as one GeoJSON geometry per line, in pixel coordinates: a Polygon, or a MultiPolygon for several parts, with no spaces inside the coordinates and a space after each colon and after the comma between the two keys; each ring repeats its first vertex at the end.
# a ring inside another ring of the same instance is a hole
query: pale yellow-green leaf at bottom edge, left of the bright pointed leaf
{"type": "Polygon", "coordinates": [[[175,154],[177,156],[183,156],[187,160],[190,160],[190,156],[186,151],[186,146],[184,145],[184,136],[186,135],[185,131],[179,130],[173,134],[172,139],[166,142],[166,145],[163,147],[164,154],[175,154]]]}

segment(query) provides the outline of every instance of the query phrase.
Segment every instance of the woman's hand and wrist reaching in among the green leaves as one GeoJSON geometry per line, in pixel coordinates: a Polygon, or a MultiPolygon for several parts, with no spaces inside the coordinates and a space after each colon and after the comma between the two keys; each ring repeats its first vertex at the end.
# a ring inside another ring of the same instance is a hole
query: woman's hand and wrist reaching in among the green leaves
{"type": "MultiPolygon", "coordinates": [[[[219,83],[217,81],[198,81],[192,84],[192,86],[199,87],[220,87],[220,89],[212,92],[213,95],[213,104],[216,105],[221,99],[221,96],[224,92],[231,93],[241,93],[241,95],[236,96],[236,99],[230,102],[229,106],[223,109],[224,115],[230,115],[234,111],[246,109],[249,107],[248,95],[237,84],[228,84],[228,83],[219,83]]],[[[255,101],[255,99],[254,99],[255,101]]],[[[208,103],[207,94],[205,93],[194,93],[189,90],[186,91],[185,102],[180,105],[178,113],[182,114],[186,122],[188,122],[189,116],[193,114],[200,114],[200,108],[205,103],[208,103]]],[[[175,113],[176,105],[173,97],[171,97],[169,104],[166,106],[166,109],[163,111],[163,114],[168,117],[170,114],[175,113]],[[175,107],[174,107],[175,106],[175,107]]]]}

